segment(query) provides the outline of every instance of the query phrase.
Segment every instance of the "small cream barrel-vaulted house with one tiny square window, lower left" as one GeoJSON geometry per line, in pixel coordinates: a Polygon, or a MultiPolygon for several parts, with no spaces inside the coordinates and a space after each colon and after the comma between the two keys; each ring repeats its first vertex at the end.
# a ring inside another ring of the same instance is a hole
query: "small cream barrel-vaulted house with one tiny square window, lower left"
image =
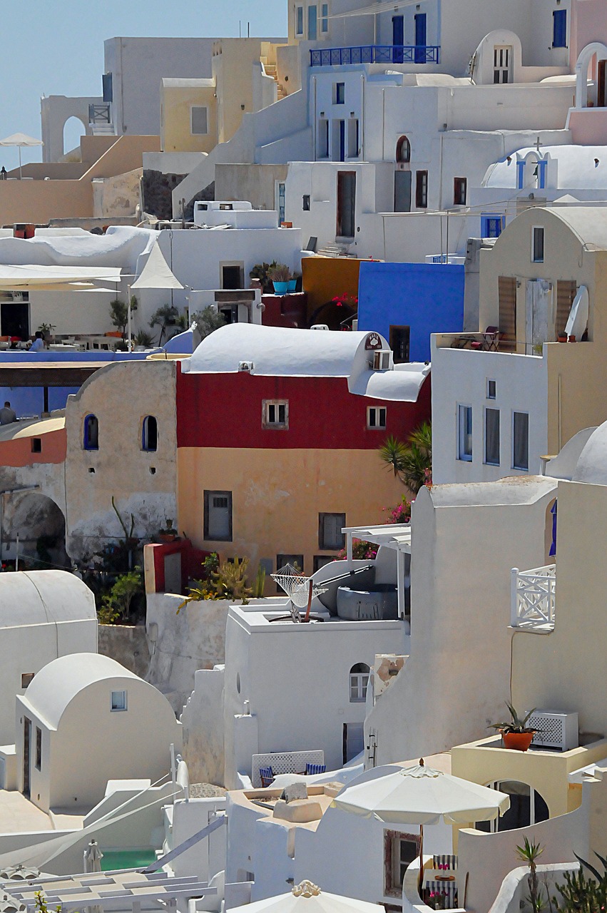
{"type": "Polygon", "coordinates": [[[109,656],[62,656],[16,699],[19,790],[44,811],[89,810],[109,780],[156,782],[181,740],[168,700],[109,656]]]}

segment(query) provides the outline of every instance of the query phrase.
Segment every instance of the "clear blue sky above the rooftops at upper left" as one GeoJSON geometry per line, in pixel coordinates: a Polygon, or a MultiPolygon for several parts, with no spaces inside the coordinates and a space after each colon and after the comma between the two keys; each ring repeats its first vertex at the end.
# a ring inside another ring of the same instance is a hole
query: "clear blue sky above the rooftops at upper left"
{"type": "MultiPolygon", "coordinates": [[[[100,95],[103,41],[114,36],[237,37],[287,34],[287,0],[22,0],[0,11],[0,137],[40,138],[42,95],[100,95]]],[[[24,162],[42,158],[23,150],[24,162]]],[[[18,163],[0,149],[0,165],[18,163]]]]}

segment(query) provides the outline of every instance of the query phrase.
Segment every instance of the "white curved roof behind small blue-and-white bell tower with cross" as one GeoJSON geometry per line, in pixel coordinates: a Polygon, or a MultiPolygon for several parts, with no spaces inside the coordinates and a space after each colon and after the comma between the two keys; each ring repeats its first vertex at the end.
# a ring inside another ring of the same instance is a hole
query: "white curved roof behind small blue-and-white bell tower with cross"
{"type": "MultiPolygon", "coordinates": [[[[484,187],[517,186],[517,155],[525,158],[529,152],[537,155],[535,146],[525,146],[510,152],[510,163],[505,156],[487,169],[484,187]]],[[[594,190],[607,188],[607,146],[541,146],[540,154],[548,152],[559,163],[558,185],[567,190],[594,190]],[[598,159],[598,164],[595,162],[598,159]]]]}

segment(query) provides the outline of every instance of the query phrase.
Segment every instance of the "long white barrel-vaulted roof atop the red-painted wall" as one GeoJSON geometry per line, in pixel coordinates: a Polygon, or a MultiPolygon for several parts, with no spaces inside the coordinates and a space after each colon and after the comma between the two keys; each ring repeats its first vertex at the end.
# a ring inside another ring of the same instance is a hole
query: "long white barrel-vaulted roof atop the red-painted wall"
{"type": "MultiPolygon", "coordinates": [[[[253,362],[253,373],[272,377],[349,377],[368,336],[368,332],[231,323],[207,336],[192,358],[182,362],[182,370],[235,373],[240,362],[253,362]]],[[[389,349],[388,342],[382,336],[380,339],[382,348],[389,349]]]]}

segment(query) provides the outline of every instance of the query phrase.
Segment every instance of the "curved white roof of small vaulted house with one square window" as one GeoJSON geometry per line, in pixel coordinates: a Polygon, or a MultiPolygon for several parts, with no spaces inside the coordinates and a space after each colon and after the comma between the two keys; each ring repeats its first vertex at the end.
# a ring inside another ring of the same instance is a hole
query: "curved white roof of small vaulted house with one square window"
{"type": "Polygon", "coordinates": [[[59,656],[40,669],[22,699],[36,711],[37,716],[57,729],[68,704],[80,691],[107,679],[116,679],[120,685],[120,680],[125,678],[141,681],[139,676],[120,666],[110,656],[72,653],[69,656],[59,656]]]}

